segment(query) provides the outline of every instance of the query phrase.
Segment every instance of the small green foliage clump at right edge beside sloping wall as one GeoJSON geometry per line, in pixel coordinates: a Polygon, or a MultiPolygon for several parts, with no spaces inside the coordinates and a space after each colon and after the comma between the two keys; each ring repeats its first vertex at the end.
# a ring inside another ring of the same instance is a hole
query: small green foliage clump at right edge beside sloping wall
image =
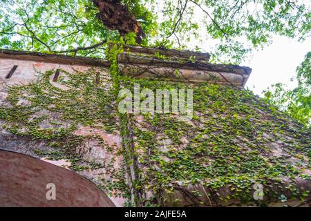
{"type": "Polygon", "coordinates": [[[292,118],[306,126],[311,124],[311,52],[305,55],[305,59],[296,68],[298,86],[293,90],[287,90],[285,85],[274,84],[265,91],[265,99],[279,110],[288,113],[292,118]]]}

